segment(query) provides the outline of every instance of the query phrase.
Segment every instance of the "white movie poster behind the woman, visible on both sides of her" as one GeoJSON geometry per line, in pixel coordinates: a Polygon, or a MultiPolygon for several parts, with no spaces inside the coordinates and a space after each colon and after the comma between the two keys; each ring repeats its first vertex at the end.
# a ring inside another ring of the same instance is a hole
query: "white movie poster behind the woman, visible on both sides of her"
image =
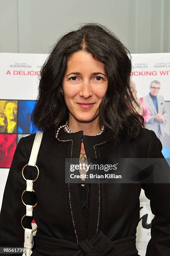
{"type": "MultiPolygon", "coordinates": [[[[36,104],[40,69],[48,54],[0,53],[0,207],[18,141],[35,133],[31,113],[36,104]]],[[[146,128],[155,131],[162,154],[170,158],[170,53],[132,54],[131,86],[146,128]]],[[[60,200],[60,199],[59,199],[60,200]]],[[[140,195],[137,249],[145,256],[151,238],[150,201],[140,195]]],[[[34,223],[35,224],[35,223],[34,223]]]]}

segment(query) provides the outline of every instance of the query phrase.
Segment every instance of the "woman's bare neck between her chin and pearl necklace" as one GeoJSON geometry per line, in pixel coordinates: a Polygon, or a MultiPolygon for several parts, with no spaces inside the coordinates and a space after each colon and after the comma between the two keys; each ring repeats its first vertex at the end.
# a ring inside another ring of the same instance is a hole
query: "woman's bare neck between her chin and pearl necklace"
{"type": "Polygon", "coordinates": [[[99,131],[101,128],[99,127],[99,118],[93,120],[92,122],[89,123],[83,123],[81,121],[77,121],[73,118],[69,118],[69,128],[73,133],[76,133],[78,131],[84,131],[83,135],[89,135],[89,136],[94,136],[99,131]]]}

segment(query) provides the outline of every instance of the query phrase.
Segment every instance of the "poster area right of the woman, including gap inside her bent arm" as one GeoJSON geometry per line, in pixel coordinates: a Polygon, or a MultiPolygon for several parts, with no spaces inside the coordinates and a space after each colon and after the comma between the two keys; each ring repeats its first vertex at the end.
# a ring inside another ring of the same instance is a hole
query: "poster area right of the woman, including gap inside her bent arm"
{"type": "MultiPolygon", "coordinates": [[[[170,53],[132,54],[132,87],[142,107],[145,127],[155,131],[162,143],[162,154],[170,159],[170,53]]],[[[140,221],[136,246],[145,256],[151,238],[150,200],[140,194],[140,221]]]]}

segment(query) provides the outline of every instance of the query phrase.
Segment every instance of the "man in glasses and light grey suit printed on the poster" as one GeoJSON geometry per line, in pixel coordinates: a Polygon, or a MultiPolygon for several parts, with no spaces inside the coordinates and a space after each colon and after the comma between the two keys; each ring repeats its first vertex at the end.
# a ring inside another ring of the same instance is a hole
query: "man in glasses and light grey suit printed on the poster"
{"type": "Polygon", "coordinates": [[[146,128],[156,133],[157,137],[164,136],[164,126],[167,121],[167,110],[160,91],[160,82],[154,80],[150,83],[150,93],[145,96],[145,102],[151,113],[150,120],[146,123],[146,128]]]}

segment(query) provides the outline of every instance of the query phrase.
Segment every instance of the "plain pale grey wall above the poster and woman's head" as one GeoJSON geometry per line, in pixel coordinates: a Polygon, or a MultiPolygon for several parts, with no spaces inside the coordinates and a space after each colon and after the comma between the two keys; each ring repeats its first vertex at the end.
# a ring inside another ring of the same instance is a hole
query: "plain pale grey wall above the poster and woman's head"
{"type": "Polygon", "coordinates": [[[170,0],[0,0],[0,52],[49,53],[82,22],[108,26],[131,53],[170,52],[170,0]]]}

